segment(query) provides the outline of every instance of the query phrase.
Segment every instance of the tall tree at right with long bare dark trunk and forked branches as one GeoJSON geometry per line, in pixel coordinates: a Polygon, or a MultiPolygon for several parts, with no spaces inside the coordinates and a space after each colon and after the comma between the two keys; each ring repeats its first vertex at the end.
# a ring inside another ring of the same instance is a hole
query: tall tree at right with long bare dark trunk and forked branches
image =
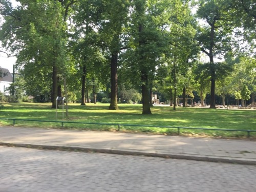
{"type": "Polygon", "coordinates": [[[222,0],[200,0],[197,16],[204,19],[207,24],[198,29],[198,41],[201,51],[209,57],[210,61],[210,108],[215,109],[216,67],[214,58],[231,49],[231,18],[224,10],[222,0]]]}

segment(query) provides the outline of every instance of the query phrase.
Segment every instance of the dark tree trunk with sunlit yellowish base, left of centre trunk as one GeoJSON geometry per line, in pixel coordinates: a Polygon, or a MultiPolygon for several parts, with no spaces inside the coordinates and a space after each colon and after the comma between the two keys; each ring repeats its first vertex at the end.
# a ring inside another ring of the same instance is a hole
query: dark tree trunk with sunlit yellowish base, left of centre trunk
{"type": "Polygon", "coordinates": [[[111,95],[109,110],[119,110],[117,105],[117,60],[118,53],[111,54],[111,95]]]}

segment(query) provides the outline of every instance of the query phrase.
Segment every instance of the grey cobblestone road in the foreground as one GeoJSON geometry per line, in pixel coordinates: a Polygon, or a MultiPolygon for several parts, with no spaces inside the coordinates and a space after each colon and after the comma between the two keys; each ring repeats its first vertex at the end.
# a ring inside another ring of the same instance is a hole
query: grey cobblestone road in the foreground
{"type": "Polygon", "coordinates": [[[0,146],[0,191],[256,191],[256,166],[0,146]]]}

